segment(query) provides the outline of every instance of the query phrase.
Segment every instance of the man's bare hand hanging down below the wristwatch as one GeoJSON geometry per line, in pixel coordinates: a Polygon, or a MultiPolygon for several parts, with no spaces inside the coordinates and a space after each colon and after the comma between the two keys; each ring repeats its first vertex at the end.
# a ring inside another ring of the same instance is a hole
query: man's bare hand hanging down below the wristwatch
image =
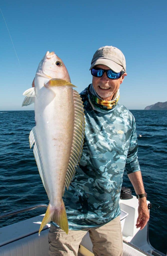
{"type": "Polygon", "coordinates": [[[139,200],[139,207],[138,207],[139,215],[137,218],[136,227],[142,230],[147,224],[150,215],[149,215],[149,210],[146,202],[146,197],[139,198],[138,200],[139,200]]]}

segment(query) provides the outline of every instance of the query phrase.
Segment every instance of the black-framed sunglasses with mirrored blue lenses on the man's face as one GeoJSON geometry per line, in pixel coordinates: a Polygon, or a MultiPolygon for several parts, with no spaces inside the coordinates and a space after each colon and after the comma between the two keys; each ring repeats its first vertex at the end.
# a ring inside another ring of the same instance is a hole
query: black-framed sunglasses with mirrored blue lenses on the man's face
{"type": "Polygon", "coordinates": [[[102,68],[92,68],[91,74],[94,77],[102,77],[102,75],[106,73],[108,78],[111,79],[118,79],[120,78],[125,72],[121,71],[119,73],[114,72],[113,70],[109,69],[102,69],[102,68]]]}

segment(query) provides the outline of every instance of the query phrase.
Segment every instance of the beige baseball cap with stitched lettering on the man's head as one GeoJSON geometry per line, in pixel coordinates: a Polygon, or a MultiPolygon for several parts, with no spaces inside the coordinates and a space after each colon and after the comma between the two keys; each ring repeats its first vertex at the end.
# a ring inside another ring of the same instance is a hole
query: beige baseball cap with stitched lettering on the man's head
{"type": "Polygon", "coordinates": [[[90,70],[97,65],[105,65],[116,73],[121,70],[126,72],[125,56],[114,46],[103,46],[95,52],[90,70]]]}

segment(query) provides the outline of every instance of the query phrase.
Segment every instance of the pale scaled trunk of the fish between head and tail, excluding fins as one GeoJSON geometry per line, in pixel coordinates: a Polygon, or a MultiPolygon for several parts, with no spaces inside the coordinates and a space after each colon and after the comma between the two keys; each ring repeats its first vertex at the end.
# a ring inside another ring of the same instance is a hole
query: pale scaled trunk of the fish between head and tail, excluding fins
{"type": "MultiPolygon", "coordinates": [[[[74,131],[74,100],[70,87],[43,88],[35,99],[36,133],[50,195],[59,207],[74,131]]],[[[44,184],[45,185],[45,184],[44,184]]]]}

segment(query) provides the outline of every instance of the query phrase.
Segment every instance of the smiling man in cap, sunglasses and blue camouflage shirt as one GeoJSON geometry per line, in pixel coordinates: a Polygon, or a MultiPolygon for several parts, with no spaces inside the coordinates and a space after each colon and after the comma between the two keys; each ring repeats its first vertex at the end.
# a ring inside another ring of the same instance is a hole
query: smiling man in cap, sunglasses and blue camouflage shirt
{"type": "Polygon", "coordinates": [[[101,47],[90,70],[92,84],[80,93],[86,123],[82,156],[63,197],[69,233],[51,224],[49,255],[77,255],[87,232],[95,256],[122,255],[119,198],[124,169],[140,195],[136,227],[143,229],[149,220],[135,119],[118,103],[119,87],[127,76],[125,57],[116,47],[101,47]]]}

